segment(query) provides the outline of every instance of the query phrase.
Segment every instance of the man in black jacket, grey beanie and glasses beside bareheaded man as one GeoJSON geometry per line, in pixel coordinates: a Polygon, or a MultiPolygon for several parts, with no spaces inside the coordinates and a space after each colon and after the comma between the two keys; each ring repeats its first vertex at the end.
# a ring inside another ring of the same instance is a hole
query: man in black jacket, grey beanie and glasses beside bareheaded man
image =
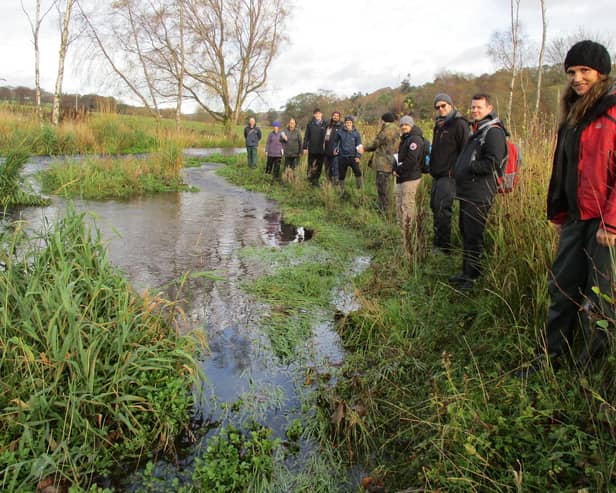
{"type": "Polygon", "coordinates": [[[453,199],[456,194],[453,171],[468,140],[469,122],[454,108],[448,94],[436,95],[434,109],[437,116],[430,153],[430,208],[434,216],[434,248],[449,253],[453,199]]]}

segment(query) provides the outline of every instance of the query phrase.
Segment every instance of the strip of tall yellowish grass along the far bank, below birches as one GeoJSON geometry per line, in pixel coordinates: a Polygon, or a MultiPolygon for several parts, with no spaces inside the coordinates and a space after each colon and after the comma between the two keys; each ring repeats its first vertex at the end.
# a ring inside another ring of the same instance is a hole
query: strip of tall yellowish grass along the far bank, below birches
{"type": "Polygon", "coordinates": [[[180,147],[243,145],[238,127],[231,138],[222,125],[93,112],[85,121],[65,121],[58,127],[40,126],[25,108],[0,106],[0,155],[24,148],[35,155],[134,154],[151,152],[168,141],[180,147]]]}

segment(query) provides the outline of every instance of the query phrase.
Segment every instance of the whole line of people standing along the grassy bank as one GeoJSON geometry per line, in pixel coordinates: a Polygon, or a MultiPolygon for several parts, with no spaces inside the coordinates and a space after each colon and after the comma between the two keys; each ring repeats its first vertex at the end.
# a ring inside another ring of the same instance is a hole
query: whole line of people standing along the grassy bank
{"type": "MultiPolygon", "coordinates": [[[[578,327],[585,336],[580,365],[592,364],[608,349],[607,333],[599,327],[603,324],[593,320],[615,320],[616,86],[609,77],[611,66],[606,48],[589,40],[576,43],[565,58],[568,84],[547,197],[547,216],[559,230],[560,241],[549,273],[550,308],[544,339],[523,375],[534,373],[546,361],[560,361],[570,351],[578,327]]],[[[364,151],[372,152],[369,166],[376,171],[379,207],[383,211],[389,207],[393,176],[397,217],[403,225],[415,220],[415,193],[422,173],[429,172],[434,248],[451,252],[457,199],[463,260],[461,272],[449,282],[468,290],[481,275],[486,221],[497,190],[497,170],[507,159],[508,131],[485,93],[471,98],[470,121],[446,93],[434,97],[434,110],[429,167],[425,156],[430,144],[411,116],[403,116],[396,124],[394,114],[383,114],[376,137],[363,146],[352,117],[342,120],[336,111],[326,123],[315,109],[303,139],[293,119],[283,131],[274,122],[265,149],[266,172],[279,176],[283,156],[285,168],[295,168],[303,152],[314,186],[325,167],[332,183],[343,188],[350,167],[361,188],[360,157],[364,151]]],[[[251,166],[256,165],[251,161],[256,153],[250,147],[258,144],[252,137],[260,136],[255,129],[251,119],[245,130],[251,166]]]]}

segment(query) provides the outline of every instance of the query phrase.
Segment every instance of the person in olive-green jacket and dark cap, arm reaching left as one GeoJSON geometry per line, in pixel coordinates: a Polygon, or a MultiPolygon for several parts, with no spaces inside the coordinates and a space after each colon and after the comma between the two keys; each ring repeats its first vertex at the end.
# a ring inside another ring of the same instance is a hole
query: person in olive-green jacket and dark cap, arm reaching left
{"type": "Polygon", "coordinates": [[[379,210],[386,213],[389,209],[389,177],[393,172],[394,153],[398,152],[400,132],[393,113],[384,113],[381,121],[383,123],[379,133],[364,149],[374,152],[368,165],[376,170],[379,210]]]}

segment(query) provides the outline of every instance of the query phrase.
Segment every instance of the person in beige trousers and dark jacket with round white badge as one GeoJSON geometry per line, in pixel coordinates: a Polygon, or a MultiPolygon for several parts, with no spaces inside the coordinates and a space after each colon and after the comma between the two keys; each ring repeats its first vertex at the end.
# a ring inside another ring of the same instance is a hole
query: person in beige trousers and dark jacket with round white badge
{"type": "Polygon", "coordinates": [[[400,118],[400,145],[398,163],[394,169],[396,177],[396,217],[403,229],[404,245],[409,251],[410,229],[415,222],[415,195],[421,181],[424,138],[421,128],[410,116],[400,118]]]}

